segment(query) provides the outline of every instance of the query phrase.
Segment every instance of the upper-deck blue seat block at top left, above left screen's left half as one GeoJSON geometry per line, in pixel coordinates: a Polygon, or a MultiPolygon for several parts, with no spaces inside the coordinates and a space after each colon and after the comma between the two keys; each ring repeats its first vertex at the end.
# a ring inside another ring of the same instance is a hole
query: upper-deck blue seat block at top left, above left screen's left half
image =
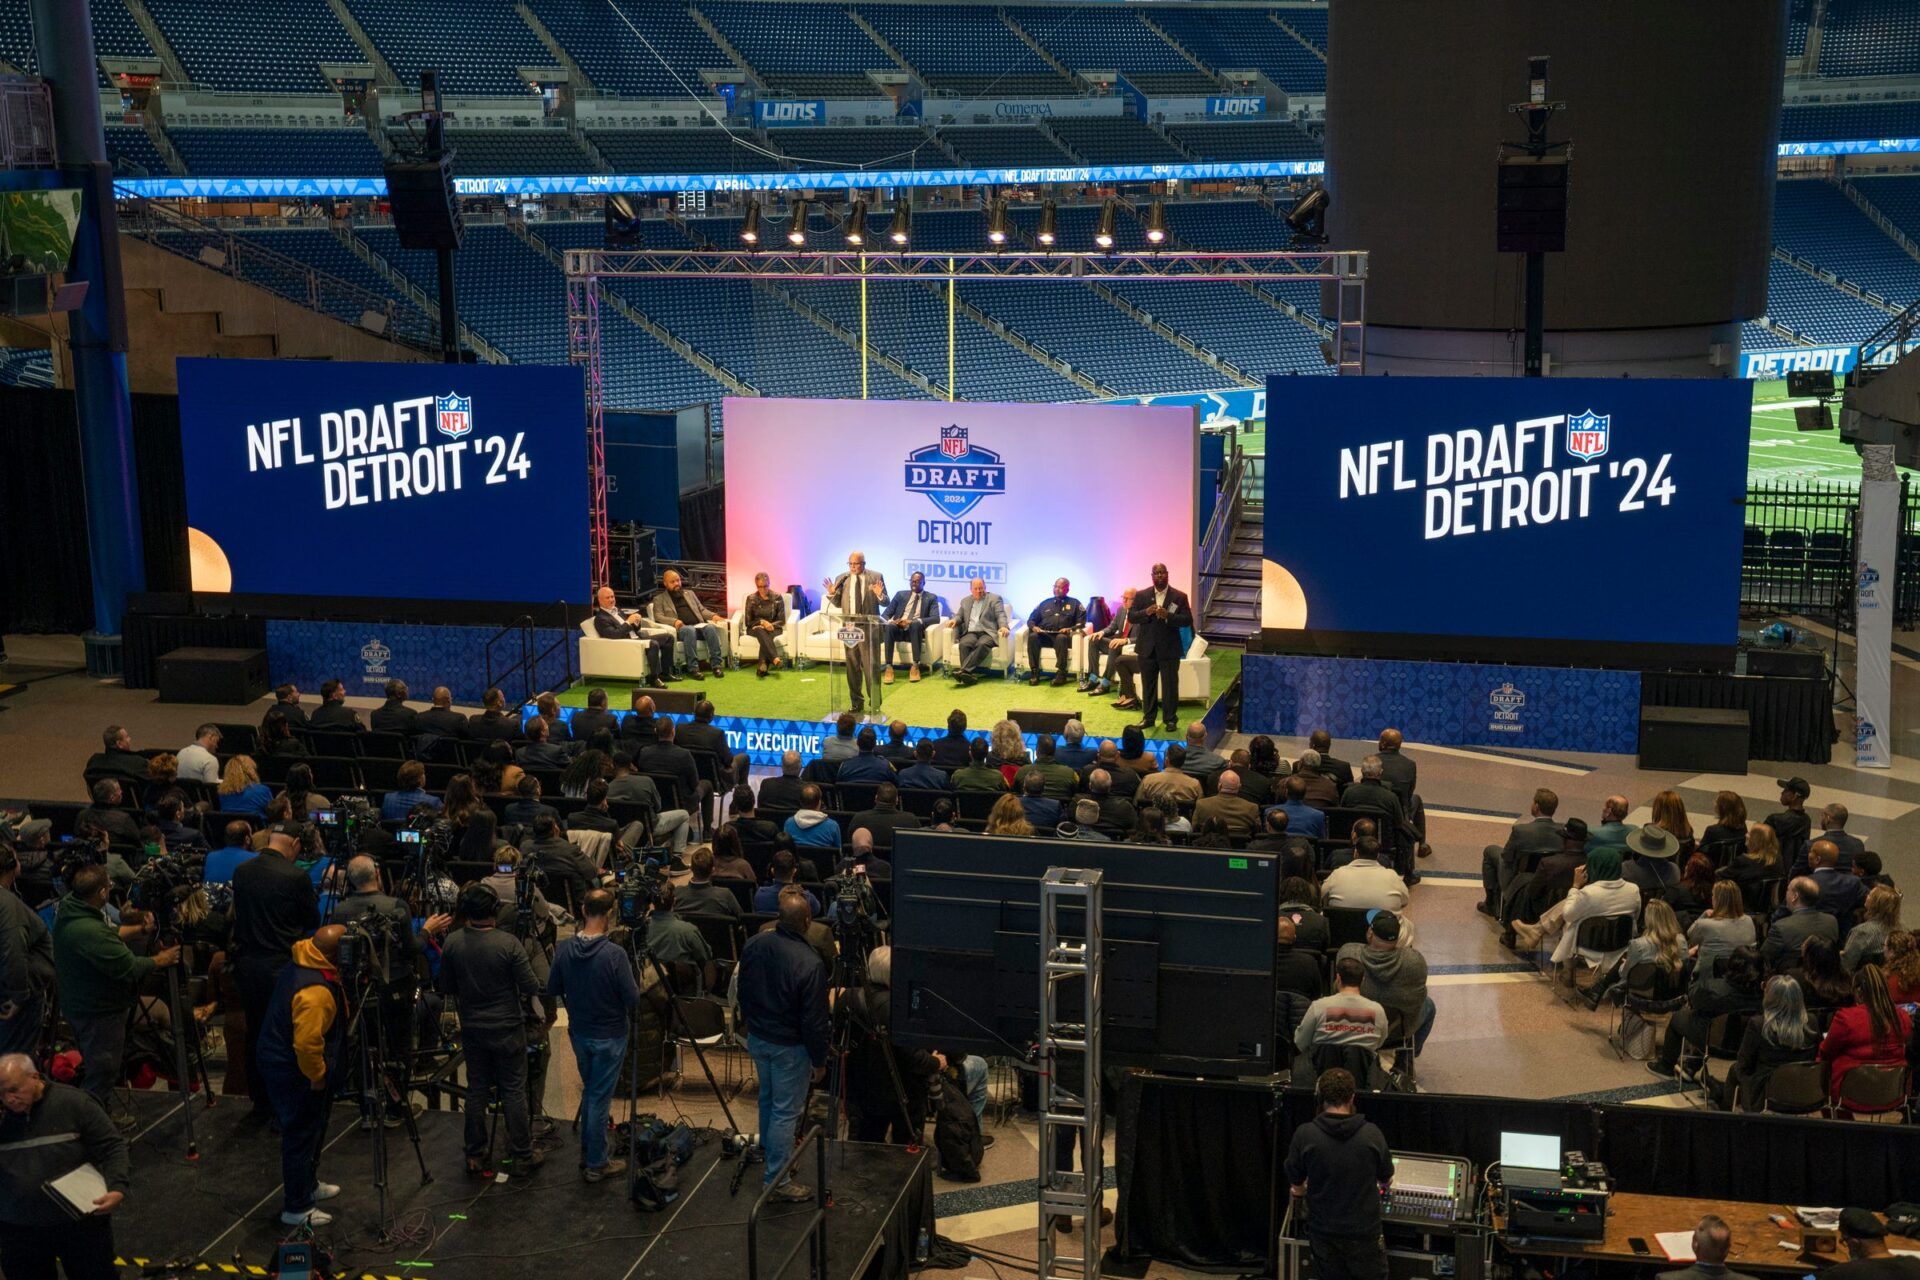
{"type": "Polygon", "coordinates": [[[221,92],[317,94],[321,63],[365,63],[326,0],[146,0],[194,84],[221,92]]]}

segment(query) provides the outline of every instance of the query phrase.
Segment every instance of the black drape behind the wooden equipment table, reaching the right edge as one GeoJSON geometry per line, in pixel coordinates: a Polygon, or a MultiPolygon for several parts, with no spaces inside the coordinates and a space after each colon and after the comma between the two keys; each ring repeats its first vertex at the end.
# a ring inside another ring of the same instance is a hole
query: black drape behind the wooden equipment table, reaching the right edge
{"type": "Polygon", "coordinates": [[[1920,1128],[1724,1111],[1597,1107],[1622,1192],[1884,1209],[1920,1196],[1920,1128]]]}

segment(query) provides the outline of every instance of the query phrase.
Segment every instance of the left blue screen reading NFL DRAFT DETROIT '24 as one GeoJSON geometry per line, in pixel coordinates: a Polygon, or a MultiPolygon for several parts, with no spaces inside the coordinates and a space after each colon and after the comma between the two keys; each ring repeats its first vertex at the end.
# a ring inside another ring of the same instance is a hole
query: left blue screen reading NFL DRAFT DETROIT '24
{"type": "Polygon", "coordinates": [[[179,372],[194,591],[586,603],[578,368],[179,372]]]}

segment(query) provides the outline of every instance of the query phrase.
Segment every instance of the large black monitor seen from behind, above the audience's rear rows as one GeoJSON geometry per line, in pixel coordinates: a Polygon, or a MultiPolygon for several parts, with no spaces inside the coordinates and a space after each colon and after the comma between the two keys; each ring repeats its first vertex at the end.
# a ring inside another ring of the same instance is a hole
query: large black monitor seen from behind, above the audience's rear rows
{"type": "MultiPolygon", "coordinates": [[[[1100,867],[1102,1055],[1188,1075],[1273,1069],[1279,864],[1263,854],[900,831],[893,842],[893,1038],[1020,1054],[1039,1025],[1048,867],[1100,867]]],[[[1071,913],[1073,936],[1079,915],[1071,913]]],[[[1077,984],[1062,988],[1079,1013],[1077,984]]]]}

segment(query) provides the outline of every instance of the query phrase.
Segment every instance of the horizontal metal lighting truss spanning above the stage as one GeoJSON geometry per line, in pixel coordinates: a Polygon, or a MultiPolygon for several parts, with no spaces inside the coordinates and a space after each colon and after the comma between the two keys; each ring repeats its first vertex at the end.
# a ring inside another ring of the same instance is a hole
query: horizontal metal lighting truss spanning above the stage
{"type": "Polygon", "coordinates": [[[1313,253],[566,249],[566,274],[593,280],[1352,282],[1367,278],[1367,253],[1363,249],[1313,253]]]}

